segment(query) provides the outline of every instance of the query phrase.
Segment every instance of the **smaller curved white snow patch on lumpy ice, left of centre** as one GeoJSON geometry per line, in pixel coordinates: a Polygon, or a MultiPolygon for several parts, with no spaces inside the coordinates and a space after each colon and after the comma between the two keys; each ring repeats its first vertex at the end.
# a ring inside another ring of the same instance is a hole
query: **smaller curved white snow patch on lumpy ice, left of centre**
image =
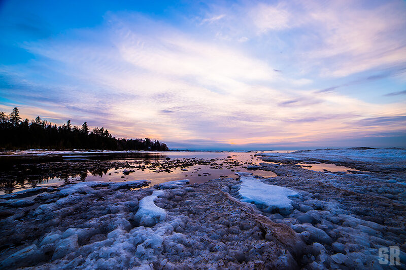
{"type": "Polygon", "coordinates": [[[162,208],[155,205],[155,199],[163,195],[162,190],[155,190],[152,195],[144,197],[139,204],[137,214],[134,216],[140,226],[152,227],[156,223],[162,221],[166,217],[166,212],[162,208]]]}

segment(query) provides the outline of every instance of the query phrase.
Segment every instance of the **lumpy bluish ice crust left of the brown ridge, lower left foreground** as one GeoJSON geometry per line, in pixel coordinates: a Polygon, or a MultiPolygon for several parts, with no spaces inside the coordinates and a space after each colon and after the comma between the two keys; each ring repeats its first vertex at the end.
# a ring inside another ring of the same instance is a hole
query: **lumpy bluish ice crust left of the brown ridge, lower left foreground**
{"type": "MultiPolygon", "coordinates": [[[[233,179],[222,182],[227,181],[235,184],[233,179]]],[[[53,194],[53,199],[40,197],[36,201],[42,204],[30,211],[21,209],[15,213],[17,216],[0,220],[2,225],[14,224],[0,233],[3,243],[16,243],[15,248],[0,253],[0,268],[297,266],[287,246],[275,238],[261,237],[263,233],[258,226],[265,231],[281,232],[283,241],[292,247],[291,252],[295,252],[294,244],[300,243],[293,231],[272,227],[275,223],[271,221],[262,224],[256,214],[244,212],[250,209],[242,211],[240,207],[245,206],[238,200],[219,193],[221,186],[217,181],[165,190],[109,186],[95,183],[62,188],[53,194]],[[80,192],[83,190],[86,192],[80,192]],[[23,221],[16,220],[27,213],[23,221]],[[157,223],[149,223],[149,217],[157,223]],[[33,229],[37,226],[41,230],[33,229]],[[28,245],[18,244],[21,240],[28,245]]]]}

